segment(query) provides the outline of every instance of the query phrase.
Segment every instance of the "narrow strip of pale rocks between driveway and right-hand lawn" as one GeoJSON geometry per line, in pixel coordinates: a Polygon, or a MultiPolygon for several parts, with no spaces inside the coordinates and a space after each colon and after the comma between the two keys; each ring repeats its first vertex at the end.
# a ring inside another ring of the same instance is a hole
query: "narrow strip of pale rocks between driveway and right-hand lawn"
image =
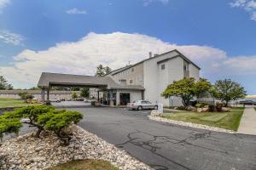
{"type": "Polygon", "coordinates": [[[207,125],[201,125],[201,124],[196,124],[196,123],[192,123],[192,122],[175,121],[175,120],[166,119],[166,118],[160,117],[160,116],[148,116],[148,118],[150,120],[153,120],[153,121],[168,122],[168,123],[177,124],[177,125],[181,125],[181,126],[185,126],[185,127],[202,128],[202,129],[206,129],[206,130],[223,132],[223,133],[236,133],[235,131],[227,130],[227,129],[224,129],[224,128],[209,127],[207,125]]]}

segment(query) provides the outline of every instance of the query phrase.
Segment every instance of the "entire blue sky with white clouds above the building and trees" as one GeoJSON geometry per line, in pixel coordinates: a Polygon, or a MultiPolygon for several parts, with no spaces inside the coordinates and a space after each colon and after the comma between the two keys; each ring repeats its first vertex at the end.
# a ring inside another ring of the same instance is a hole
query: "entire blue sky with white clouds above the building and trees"
{"type": "Polygon", "coordinates": [[[0,74],[15,88],[41,71],[92,75],[172,48],[211,82],[256,94],[256,1],[0,0],[0,74]]]}

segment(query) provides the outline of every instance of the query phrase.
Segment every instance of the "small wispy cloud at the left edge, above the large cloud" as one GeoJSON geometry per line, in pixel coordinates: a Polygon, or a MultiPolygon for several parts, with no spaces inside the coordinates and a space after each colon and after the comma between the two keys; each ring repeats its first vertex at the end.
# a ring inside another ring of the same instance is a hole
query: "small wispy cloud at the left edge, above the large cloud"
{"type": "Polygon", "coordinates": [[[7,30],[0,30],[0,41],[4,43],[21,45],[23,40],[24,40],[24,37],[20,36],[19,34],[16,34],[7,30]]]}

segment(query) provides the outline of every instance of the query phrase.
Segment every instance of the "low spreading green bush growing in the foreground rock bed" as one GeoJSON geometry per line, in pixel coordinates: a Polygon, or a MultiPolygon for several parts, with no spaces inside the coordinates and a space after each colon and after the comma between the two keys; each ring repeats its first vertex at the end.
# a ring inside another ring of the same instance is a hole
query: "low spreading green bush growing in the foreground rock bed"
{"type": "Polygon", "coordinates": [[[63,141],[63,144],[69,144],[71,133],[68,133],[67,127],[73,123],[78,123],[82,114],[78,111],[55,110],[48,105],[31,105],[16,109],[15,111],[5,112],[0,116],[0,137],[4,133],[18,133],[21,127],[21,118],[27,118],[23,122],[29,127],[37,127],[35,137],[40,137],[43,130],[49,130],[63,141]]]}

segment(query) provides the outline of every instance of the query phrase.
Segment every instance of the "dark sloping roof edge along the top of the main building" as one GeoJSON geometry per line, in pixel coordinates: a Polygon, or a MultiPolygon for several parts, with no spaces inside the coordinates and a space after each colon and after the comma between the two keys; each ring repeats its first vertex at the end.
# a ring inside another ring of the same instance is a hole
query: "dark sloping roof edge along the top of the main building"
{"type": "MultiPolygon", "coordinates": [[[[192,62],[192,61],[191,61],[190,59],[188,59],[185,55],[183,55],[182,53],[180,53],[177,49],[174,49],[174,50],[172,50],[172,51],[168,51],[168,52],[166,52],[166,53],[164,53],[164,54],[168,54],[168,53],[172,53],[172,52],[177,52],[178,55],[176,55],[176,56],[174,56],[174,57],[170,57],[170,58],[168,58],[167,60],[169,60],[169,59],[174,59],[174,58],[176,58],[176,57],[181,57],[181,58],[183,58],[184,60],[186,60],[187,62],[189,62],[190,64],[195,65],[194,62],[192,62]]],[[[158,54],[158,55],[155,55],[154,57],[151,57],[151,58],[148,58],[148,59],[143,59],[142,61],[137,62],[137,63],[134,64],[134,65],[127,65],[127,66],[125,66],[125,67],[122,67],[122,68],[120,68],[120,69],[117,69],[117,70],[115,70],[115,71],[112,71],[112,72],[110,72],[109,74],[111,74],[111,75],[113,76],[113,75],[115,75],[115,74],[118,74],[119,72],[128,70],[128,69],[130,69],[130,68],[133,67],[133,66],[139,65],[139,64],[141,64],[141,63],[143,63],[143,62],[145,62],[145,61],[147,61],[147,60],[149,60],[149,59],[155,59],[155,58],[160,57],[160,56],[162,56],[162,55],[164,55],[164,54],[158,54]]],[[[163,59],[163,60],[165,60],[165,59],[163,59]]],[[[159,62],[160,62],[160,61],[159,61],[159,62]]],[[[195,65],[195,67],[198,68],[199,70],[201,70],[201,68],[200,68],[198,65],[195,65]]]]}

